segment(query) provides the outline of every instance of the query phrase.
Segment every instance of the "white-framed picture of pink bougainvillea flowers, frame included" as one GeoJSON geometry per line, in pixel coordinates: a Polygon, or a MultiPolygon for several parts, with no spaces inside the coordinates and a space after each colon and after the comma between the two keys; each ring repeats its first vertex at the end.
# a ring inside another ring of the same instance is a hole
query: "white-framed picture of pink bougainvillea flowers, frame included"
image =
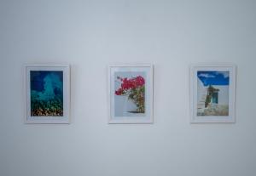
{"type": "Polygon", "coordinates": [[[153,123],[153,65],[110,65],[109,123],[153,123]]]}

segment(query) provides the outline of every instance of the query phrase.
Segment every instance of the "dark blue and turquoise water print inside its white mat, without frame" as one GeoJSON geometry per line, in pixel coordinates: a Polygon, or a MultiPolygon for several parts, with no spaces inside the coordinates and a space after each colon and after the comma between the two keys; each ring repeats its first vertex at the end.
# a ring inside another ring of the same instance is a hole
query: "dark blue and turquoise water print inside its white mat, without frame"
{"type": "Polygon", "coordinates": [[[31,116],[63,116],[63,71],[30,71],[31,116]]]}

